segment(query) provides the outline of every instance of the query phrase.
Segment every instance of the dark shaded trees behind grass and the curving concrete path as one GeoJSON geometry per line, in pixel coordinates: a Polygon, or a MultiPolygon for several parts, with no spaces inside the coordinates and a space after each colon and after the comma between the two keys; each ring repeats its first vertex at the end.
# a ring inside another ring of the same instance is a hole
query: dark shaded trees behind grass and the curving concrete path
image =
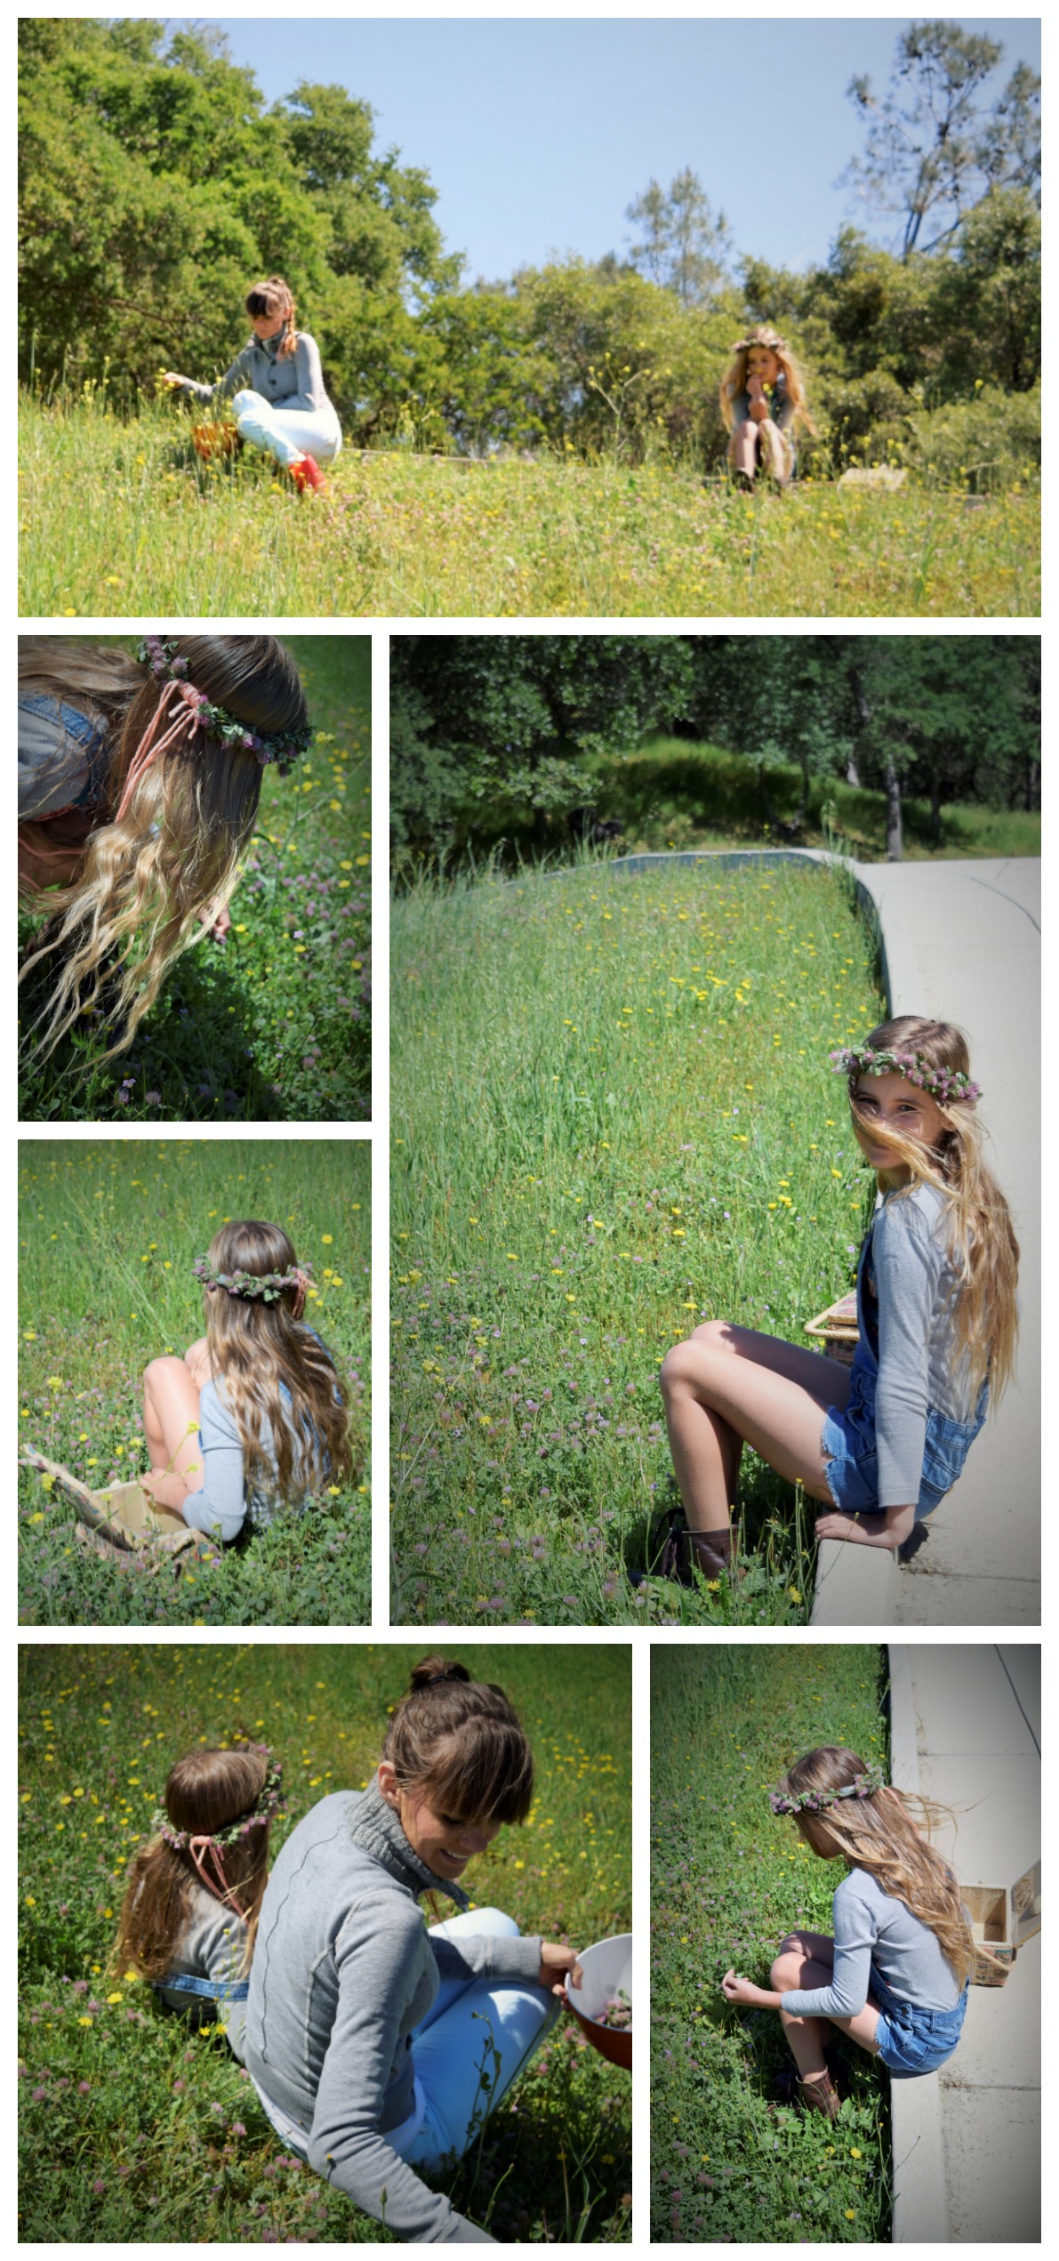
{"type": "Polygon", "coordinates": [[[1041,638],[397,635],[395,868],[598,837],[657,735],[741,755],[774,841],[804,837],[817,780],[878,789],[901,857],[905,794],[930,800],[935,846],[944,803],[1041,805],[1041,638]],[[777,764],[799,778],[784,809],[777,764]]]}

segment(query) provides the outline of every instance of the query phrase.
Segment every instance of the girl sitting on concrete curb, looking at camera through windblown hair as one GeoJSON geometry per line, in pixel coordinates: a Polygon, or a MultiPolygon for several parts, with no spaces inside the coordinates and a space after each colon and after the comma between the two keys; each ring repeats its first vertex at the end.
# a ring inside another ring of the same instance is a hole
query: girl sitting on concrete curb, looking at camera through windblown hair
{"type": "Polygon", "coordinates": [[[851,1368],[707,1320],[662,1366],[689,1531],[680,1576],[732,1560],[743,1443],[811,1499],[826,1540],[899,1547],[957,1481],[1016,1345],[1018,1241],[982,1162],[960,1029],[887,1020],[831,1054],[878,1198],[856,1277],[851,1368]]]}

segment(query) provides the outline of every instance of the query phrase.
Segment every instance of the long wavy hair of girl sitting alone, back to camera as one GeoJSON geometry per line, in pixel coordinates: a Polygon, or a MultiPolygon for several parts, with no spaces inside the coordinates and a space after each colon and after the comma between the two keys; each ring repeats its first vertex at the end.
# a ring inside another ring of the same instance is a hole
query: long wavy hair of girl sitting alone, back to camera
{"type": "MultiPolygon", "coordinates": [[[[282,1225],[257,1219],[221,1225],[210,1241],[215,1273],[289,1273],[298,1259],[282,1225]]],[[[205,1341],[215,1379],[239,1431],[246,1488],[296,1501],[352,1476],[350,1415],[330,1350],[294,1318],[298,1289],[275,1302],[205,1291],[205,1341]],[[271,1427],[275,1472],[264,1449],[271,1427]]]]}

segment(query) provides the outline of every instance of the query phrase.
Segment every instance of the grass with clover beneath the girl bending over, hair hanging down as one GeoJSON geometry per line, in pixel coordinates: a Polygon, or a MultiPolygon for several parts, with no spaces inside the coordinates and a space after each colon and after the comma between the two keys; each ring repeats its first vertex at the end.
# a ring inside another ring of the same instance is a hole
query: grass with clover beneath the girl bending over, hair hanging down
{"type": "MultiPolygon", "coordinates": [[[[147,613],[149,599],[133,592],[102,610],[147,613]]],[[[84,1015],[47,1060],[34,1056],[50,961],[34,968],[18,993],[23,1121],[370,1115],[370,638],[285,642],[318,735],[289,778],[264,771],[230,934],[176,961],[133,1042],[113,1056],[102,1013],[84,1015]]],[[[23,909],[23,947],[38,927],[23,909]]]]}

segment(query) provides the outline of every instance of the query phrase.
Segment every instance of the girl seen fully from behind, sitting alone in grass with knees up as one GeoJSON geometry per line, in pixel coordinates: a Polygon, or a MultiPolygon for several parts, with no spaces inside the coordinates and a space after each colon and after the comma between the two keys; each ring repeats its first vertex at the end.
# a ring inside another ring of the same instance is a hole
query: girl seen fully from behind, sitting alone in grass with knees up
{"type": "Polygon", "coordinates": [[[145,1492],[235,1540],[352,1474],[334,1359],[303,1323],[307,1266],[280,1225],[228,1223],[199,1257],[205,1336],[145,1372],[145,1492]]]}

